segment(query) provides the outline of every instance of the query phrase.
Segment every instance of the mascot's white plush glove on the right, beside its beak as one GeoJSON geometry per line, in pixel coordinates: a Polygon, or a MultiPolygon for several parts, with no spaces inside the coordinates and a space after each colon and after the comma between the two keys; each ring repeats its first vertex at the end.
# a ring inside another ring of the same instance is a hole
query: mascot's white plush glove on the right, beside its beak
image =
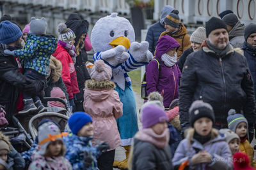
{"type": "Polygon", "coordinates": [[[148,46],[147,41],[133,42],[129,48],[129,53],[137,62],[150,62],[154,57],[148,50],[148,46]]]}

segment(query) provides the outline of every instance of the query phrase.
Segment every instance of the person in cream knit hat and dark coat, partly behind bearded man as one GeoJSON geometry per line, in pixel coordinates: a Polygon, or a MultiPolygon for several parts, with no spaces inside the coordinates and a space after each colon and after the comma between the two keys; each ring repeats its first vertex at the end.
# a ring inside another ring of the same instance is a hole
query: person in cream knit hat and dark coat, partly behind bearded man
{"type": "Polygon", "coordinates": [[[180,71],[182,72],[184,63],[186,61],[186,58],[190,53],[193,53],[197,50],[200,50],[202,47],[202,43],[206,39],[206,31],[204,27],[198,27],[195,32],[190,37],[191,47],[189,47],[187,50],[180,55],[180,59],[178,60],[178,66],[180,68],[180,71]]]}

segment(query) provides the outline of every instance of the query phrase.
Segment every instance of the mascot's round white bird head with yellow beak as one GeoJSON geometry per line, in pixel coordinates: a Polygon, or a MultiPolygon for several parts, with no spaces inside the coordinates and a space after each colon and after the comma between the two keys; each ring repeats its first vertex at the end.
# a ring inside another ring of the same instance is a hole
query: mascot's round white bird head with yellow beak
{"type": "Polygon", "coordinates": [[[117,45],[128,49],[135,41],[135,33],[129,20],[118,17],[117,13],[111,13],[96,22],[92,29],[91,41],[94,52],[104,52],[117,45]]]}

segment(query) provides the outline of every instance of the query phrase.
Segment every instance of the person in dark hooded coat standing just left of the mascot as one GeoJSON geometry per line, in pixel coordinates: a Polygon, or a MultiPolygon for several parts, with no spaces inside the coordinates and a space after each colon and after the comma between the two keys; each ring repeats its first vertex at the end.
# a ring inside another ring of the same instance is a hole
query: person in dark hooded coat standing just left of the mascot
{"type": "Polygon", "coordinates": [[[76,34],[76,43],[74,44],[76,46],[76,62],[75,69],[77,73],[77,83],[79,86],[80,92],[76,94],[75,99],[75,106],[73,108],[73,112],[76,111],[84,111],[83,109],[83,101],[84,101],[84,83],[86,80],[90,79],[90,74],[88,73],[86,69],[86,61],[87,59],[87,53],[84,50],[84,38],[86,37],[86,34],[88,32],[89,23],[87,20],[84,20],[81,15],[78,13],[71,13],[68,16],[68,20],[65,23],[67,27],[72,29],[74,33],[76,34]]]}

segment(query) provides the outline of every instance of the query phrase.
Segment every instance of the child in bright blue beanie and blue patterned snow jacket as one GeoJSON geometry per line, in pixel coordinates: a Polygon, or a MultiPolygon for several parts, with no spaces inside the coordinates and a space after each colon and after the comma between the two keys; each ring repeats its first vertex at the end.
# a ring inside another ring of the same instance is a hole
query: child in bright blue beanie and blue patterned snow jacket
{"type": "Polygon", "coordinates": [[[68,125],[72,133],[63,137],[63,141],[67,147],[65,158],[69,160],[74,170],[98,169],[97,159],[102,151],[106,152],[109,149],[109,145],[106,142],[92,146],[90,141],[93,136],[92,122],[92,117],[82,111],[75,112],[68,119],[68,125]]]}

